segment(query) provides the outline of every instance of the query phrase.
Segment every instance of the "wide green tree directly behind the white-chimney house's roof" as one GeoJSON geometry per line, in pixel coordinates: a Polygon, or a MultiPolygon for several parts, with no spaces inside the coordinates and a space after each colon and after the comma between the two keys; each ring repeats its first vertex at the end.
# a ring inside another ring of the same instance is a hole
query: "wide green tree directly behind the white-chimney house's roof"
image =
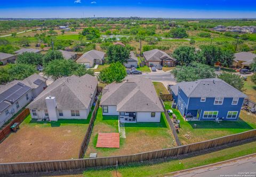
{"type": "Polygon", "coordinates": [[[44,74],[56,80],[64,76],[93,75],[94,73],[91,69],[86,69],[84,65],[76,63],[73,60],[52,60],[44,68],[44,74]]]}

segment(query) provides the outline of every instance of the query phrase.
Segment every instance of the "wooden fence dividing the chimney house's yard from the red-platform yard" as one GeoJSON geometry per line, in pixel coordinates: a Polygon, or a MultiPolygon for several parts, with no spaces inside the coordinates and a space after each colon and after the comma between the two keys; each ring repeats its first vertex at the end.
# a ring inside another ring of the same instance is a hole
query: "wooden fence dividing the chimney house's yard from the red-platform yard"
{"type": "Polygon", "coordinates": [[[100,101],[98,99],[96,104],[95,104],[95,107],[93,109],[92,117],[91,117],[89,126],[87,128],[84,139],[82,141],[82,144],[81,144],[81,147],[80,147],[80,150],[79,150],[79,154],[78,154],[78,158],[84,158],[85,151],[86,151],[86,149],[88,147],[88,144],[89,144],[89,141],[90,141],[91,133],[92,133],[92,130],[93,130],[93,124],[94,124],[94,121],[95,121],[95,118],[96,118],[96,114],[97,114],[97,110],[99,108],[99,104],[100,104],[100,101]]]}

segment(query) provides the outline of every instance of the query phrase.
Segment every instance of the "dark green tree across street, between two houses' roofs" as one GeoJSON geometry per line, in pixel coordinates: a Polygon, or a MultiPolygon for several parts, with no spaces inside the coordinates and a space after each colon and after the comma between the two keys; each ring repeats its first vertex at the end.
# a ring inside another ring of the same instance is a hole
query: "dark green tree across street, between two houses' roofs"
{"type": "Polygon", "coordinates": [[[130,51],[121,45],[110,45],[107,51],[109,63],[126,63],[130,57],[130,51]]]}

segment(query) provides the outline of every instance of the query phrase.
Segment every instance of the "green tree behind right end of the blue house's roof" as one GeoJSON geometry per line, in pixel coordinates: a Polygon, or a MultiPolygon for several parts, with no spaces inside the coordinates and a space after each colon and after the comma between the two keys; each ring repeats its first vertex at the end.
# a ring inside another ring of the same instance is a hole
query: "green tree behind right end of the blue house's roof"
{"type": "Polygon", "coordinates": [[[231,73],[222,73],[218,76],[218,78],[222,79],[229,85],[235,87],[239,91],[243,91],[244,87],[244,79],[236,74],[231,73]]]}

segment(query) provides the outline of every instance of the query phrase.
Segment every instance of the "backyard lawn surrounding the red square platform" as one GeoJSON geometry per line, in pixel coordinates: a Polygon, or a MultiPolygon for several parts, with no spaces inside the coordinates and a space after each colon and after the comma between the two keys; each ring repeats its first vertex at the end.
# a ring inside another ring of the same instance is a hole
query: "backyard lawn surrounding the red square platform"
{"type": "Polygon", "coordinates": [[[175,146],[164,114],[162,114],[160,123],[125,123],[124,128],[126,138],[120,138],[119,149],[96,148],[99,132],[118,132],[118,116],[102,116],[102,108],[99,108],[85,157],[89,157],[93,152],[97,152],[98,157],[105,157],[136,154],[175,146]]]}

